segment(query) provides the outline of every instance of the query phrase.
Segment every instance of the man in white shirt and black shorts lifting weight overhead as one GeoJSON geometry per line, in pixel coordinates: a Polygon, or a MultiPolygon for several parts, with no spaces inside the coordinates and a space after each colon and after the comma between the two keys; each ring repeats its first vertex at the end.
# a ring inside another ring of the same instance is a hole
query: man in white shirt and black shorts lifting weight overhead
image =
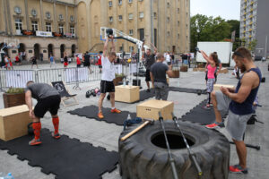
{"type": "Polygon", "coordinates": [[[103,55],[101,57],[101,64],[102,64],[102,74],[101,74],[101,81],[100,81],[100,98],[99,98],[99,113],[98,117],[100,119],[104,118],[102,113],[102,105],[103,100],[106,97],[106,93],[108,92],[110,95],[110,102],[111,102],[111,113],[121,113],[120,110],[115,108],[115,86],[113,80],[115,79],[115,68],[114,68],[114,61],[116,60],[117,55],[115,53],[115,44],[114,44],[114,37],[111,34],[108,34],[108,38],[104,45],[103,55]],[[111,52],[108,52],[108,41],[111,41],[111,52]]]}

